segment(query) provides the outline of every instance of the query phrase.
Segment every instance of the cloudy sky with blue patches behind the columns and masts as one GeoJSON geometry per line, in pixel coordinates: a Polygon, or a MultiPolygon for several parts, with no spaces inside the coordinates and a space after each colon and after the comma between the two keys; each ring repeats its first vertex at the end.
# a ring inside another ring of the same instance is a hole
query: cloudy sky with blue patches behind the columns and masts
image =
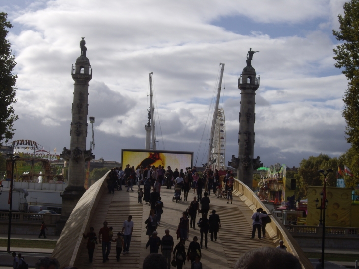
{"type": "Polygon", "coordinates": [[[85,37],[96,159],[120,162],[121,149],[145,148],[153,72],[157,149],[193,151],[194,165],[206,163],[220,63],[225,162],[237,157],[238,77],[249,48],[259,51],[252,66],[261,77],[254,156],[264,166],[289,167],[320,153],[339,156],[350,147],[341,115],[347,80],[334,67],[332,29],[339,29],[344,3],[0,0],[14,26],[7,37],[18,75],[13,140],[34,140],[57,154],[70,147],[70,68],[85,37]]]}

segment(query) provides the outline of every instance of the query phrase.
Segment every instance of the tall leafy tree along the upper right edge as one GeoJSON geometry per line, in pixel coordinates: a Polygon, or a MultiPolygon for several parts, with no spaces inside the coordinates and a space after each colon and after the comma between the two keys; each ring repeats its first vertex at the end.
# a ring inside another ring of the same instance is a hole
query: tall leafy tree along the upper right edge
{"type": "Polygon", "coordinates": [[[344,94],[343,117],[347,123],[347,141],[359,149],[359,0],[351,0],[343,6],[344,17],[338,15],[339,31],[333,30],[333,35],[339,41],[344,41],[334,49],[334,59],[337,68],[343,68],[342,73],[348,79],[348,89],[344,94]]]}

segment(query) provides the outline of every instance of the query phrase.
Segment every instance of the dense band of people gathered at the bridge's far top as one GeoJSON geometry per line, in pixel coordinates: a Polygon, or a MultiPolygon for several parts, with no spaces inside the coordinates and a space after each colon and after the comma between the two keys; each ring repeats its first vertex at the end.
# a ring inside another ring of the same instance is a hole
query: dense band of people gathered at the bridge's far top
{"type": "Polygon", "coordinates": [[[209,167],[203,172],[201,177],[197,172],[196,167],[187,167],[183,172],[183,169],[172,171],[170,166],[167,166],[167,170],[161,165],[158,167],[153,166],[138,166],[136,169],[134,166],[130,167],[129,164],[123,170],[122,167],[113,168],[109,173],[107,179],[108,193],[115,193],[115,188],[122,190],[122,186],[125,186],[126,191],[133,191],[133,187],[137,186],[138,202],[145,201],[146,204],[150,202],[151,189],[156,189],[156,192],[160,194],[161,187],[166,189],[172,189],[174,186],[180,186],[181,191],[184,194],[184,201],[188,201],[188,194],[193,189],[193,194],[197,193],[197,200],[201,202],[202,193],[222,198],[225,193],[227,197],[227,204],[232,204],[232,191],[234,185],[234,177],[231,171],[215,170],[212,171],[209,167]],[[224,176],[223,179],[220,176],[224,176]],[[143,188],[142,188],[143,185],[143,188]]]}

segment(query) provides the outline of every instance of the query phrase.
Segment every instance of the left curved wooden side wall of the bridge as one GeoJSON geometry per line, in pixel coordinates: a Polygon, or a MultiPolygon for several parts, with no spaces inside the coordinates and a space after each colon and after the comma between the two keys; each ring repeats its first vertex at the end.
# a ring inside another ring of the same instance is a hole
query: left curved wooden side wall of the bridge
{"type": "Polygon", "coordinates": [[[82,234],[90,230],[90,222],[96,207],[103,192],[107,190],[106,178],[109,172],[84,193],[68,218],[52,253],[52,257],[58,259],[60,268],[73,266],[78,258],[82,234]]]}

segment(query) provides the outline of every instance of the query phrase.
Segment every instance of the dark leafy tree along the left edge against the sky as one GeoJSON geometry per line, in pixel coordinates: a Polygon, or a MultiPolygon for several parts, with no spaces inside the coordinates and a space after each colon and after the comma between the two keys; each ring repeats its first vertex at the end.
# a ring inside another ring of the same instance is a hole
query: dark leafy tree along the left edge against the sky
{"type": "Polygon", "coordinates": [[[6,28],[12,28],[12,24],[7,20],[7,14],[0,13],[0,145],[5,139],[5,143],[14,135],[13,124],[18,116],[14,114],[11,104],[16,102],[16,79],[17,75],[12,71],[16,65],[15,56],[11,55],[11,44],[6,40],[9,33],[6,28]]]}

